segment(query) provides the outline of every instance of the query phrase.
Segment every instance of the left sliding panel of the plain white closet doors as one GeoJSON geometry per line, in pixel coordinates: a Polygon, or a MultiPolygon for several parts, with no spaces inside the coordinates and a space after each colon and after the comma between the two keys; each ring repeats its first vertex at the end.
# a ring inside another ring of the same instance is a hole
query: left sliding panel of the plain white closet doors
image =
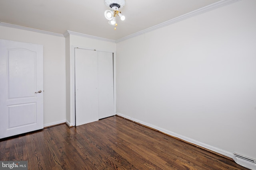
{"type": "Polygon", "coordinates": [[[76,126],[97,121],[98,57],[97,51],[75,49],[76,126]]]}

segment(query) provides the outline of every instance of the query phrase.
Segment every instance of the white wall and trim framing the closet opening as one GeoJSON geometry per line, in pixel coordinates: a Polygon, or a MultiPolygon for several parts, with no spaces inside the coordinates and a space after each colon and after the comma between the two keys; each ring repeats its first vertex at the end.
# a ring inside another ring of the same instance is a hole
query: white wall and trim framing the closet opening
{"type": "MultiPolygon", "coordinates": [[[[94,39],[90,37],[84,37],[82,34],[81,36],[73,35],[72,33],[66,37],[66,48],[69,48],[70,54],[66,54],[66,93],[67,93],[67,100],[66,100],[66,120],[69,126],[75,125],[75,77],[74,77],[74,47],[79,47],[83,49],[92,49],[97,51],[106,51],[114,53],[114,77],[116,76],[115,69],[116,69],[116,43],[111,41],[104,41],[100,39],[94,39]]],[[[66,51],[68,51],[66,49],[66,51]]],[[[115,84],[115,78],[114,78],[115,84]]],[[[115,88],[115,87],[114,87],[115,88]]],[[[114,94],[115,95],[115,94],[114,94]]]]}

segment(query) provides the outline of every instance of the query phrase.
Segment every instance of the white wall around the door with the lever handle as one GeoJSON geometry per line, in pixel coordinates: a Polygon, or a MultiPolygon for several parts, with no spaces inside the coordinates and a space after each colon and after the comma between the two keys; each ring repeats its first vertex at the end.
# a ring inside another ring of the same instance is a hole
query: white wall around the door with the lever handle
{"type": "Polygon", "coordinates": [[[44,127],[65,122],[64,37],[0,26],[0,39],[44,46],[44,127]]]}

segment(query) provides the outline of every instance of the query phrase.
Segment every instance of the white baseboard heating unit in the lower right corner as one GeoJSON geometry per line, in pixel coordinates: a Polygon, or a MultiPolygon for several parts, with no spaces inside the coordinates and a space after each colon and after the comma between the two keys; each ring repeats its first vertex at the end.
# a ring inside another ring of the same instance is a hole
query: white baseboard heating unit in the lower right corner
{"type": "Polygon", "coordinates": [[[234,160],[237,164],[246,168],[256,170],[256,160],[234,153],[234,160]]]}

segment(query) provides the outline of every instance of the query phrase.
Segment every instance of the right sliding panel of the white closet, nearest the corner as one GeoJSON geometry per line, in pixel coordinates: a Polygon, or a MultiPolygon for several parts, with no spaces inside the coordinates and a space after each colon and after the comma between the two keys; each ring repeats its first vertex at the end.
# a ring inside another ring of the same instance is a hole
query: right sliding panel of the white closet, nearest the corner
{"type": "Polygon", "coordinates": [[[98,51],[99,119],[115,115],[113,80],[113,53],[98,51]]]}

